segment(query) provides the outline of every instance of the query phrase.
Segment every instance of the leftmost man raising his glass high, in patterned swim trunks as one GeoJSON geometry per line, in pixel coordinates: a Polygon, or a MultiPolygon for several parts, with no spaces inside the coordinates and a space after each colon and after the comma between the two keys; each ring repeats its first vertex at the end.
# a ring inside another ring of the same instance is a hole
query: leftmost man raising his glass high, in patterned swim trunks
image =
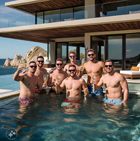
{"type": "Polygon", "coordinates": [[[36,71],[36,63],[31,61],[29,63],[28,71],[20,71],[23,69],[23,64],[18,66],[17,71],[14,73],[13,79],[15,81],[20,81],[20,95],[19,101],[20,104],[28,106],[30,103],[36,101],[35,98],[35,87],[39,90],[46,87],[46,84],[43,83],[39,85],[37,76],[34,75],[36,71]]]}

